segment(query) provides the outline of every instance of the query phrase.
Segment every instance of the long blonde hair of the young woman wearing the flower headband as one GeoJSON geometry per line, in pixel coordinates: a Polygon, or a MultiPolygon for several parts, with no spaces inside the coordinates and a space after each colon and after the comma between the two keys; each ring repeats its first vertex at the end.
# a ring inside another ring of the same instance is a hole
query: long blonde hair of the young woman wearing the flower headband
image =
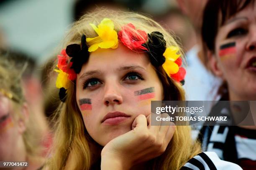
{"type": "MultiPolygon", "coordinates": [[[[63,42],[63,48],[72,43],[80,44],[83,34],[86,37],[97,36],[89,23],[98,25],[103,18],[112,20],[117,31],[128,23],[133,23],[136,29],[144,30],[146,33],[159,31],[164,35],[166,46],[179,47],[172,35],[146,16],[137,13],[100,9],[82,16],[79,21],[74,23],[63,42]]],[[[164,88],[164,99],[184,100],[182,86],[170,79],[162,66],[155,67],[155,70],[164,88]]],[[[89,170],[92,166],[93,155],[90,151],[91,147],[89,147],[92,144],[92,140],[84,127],[82,115],[76,103],[76,85],[74,82],[70,84],[71,87],[67,92],[66,102],[62,103],[58,112],[56,112],[56,117],[59,119],[56,122],[52,158],[47,165],[52,170],[64,169],[65,166],[71,166],[69,169],[89,170]]],[[[189,126],[177,126],[166,151],[159,157],[148,161],[148,165],[151,165],[149,168],[153,170],[177,170],[187,160],[200,153],[200,145],[198,142],[192,141],[190,130],[189,126]]]]}

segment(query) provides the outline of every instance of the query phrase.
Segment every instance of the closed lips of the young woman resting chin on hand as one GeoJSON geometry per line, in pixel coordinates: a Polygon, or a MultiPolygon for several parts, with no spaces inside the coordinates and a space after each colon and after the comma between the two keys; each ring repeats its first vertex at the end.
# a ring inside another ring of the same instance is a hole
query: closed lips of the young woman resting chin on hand
{"type": "Polygon", "coordinates": [[[119,122],[122,122],[129,117],[131,116],[123,112],[110,112],[102,119],[101,122],[105,122],[108,124],[118,124],[119,122]]]}

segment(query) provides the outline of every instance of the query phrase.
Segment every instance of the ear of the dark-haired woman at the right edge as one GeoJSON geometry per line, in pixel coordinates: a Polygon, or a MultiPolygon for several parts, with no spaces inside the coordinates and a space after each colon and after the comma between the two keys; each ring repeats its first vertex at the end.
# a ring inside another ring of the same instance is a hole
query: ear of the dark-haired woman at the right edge
{"type": "Polygon", "coordinates": [[[223,71],[220,69],[220,61],[217,59],[215,54],[212,51],[207,50],[207,57],[208,57],[209,66],[212,73],[215,74],[215,76],[218,76],[221,79],[224,79],[223,71]]]}

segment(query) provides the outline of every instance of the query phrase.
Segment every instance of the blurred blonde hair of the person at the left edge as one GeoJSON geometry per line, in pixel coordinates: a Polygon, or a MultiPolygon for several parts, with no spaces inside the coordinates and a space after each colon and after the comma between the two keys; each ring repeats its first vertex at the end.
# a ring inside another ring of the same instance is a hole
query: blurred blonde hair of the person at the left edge
{"type": "Polygon", "coordinates": [[[16,69],[15,62],[10,60],[8,55],[1,54],[0,93],[12,101],[13,112],[11,116],[14,119],[14,123],[18,123],[19,119],[25,122],[26,130],[23,132],[22,138],[26,148],[26,155],[33,160],[41,160],[41,138],[38,136],[36,123],[30,118],[26,121],[24,115],[21,114],[23,104],[26,102],[21,85],[21,77],[25,69],[26,64],[23,69],[16,69]]]}

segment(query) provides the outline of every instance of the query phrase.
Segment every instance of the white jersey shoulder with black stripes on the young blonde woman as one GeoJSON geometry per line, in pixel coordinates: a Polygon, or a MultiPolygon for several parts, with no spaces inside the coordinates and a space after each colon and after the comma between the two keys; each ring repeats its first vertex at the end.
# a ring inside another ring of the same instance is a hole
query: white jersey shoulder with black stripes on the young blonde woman
{"type": "Polygon", "coordinates": [[[190,159],[181,170],[242,170],[239,165],[220,160],[215,152],[201,152],[190,159]]]}

